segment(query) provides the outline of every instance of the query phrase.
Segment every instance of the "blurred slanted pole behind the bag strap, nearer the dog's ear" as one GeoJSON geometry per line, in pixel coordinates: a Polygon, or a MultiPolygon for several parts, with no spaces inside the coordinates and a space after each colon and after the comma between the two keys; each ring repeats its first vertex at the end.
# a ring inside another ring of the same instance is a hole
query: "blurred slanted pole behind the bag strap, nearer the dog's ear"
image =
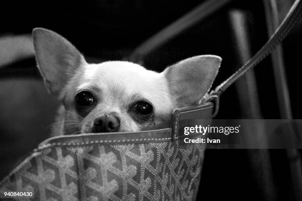
{"type": "MultiPolygon", "coordinates": [[[[244,65],[251,57],[250,35],[248,33],[248,16],[242,10],[231,10],[229,12],[232,35],[234,35],[234,49],[237,54],[238,67],[244,65]]],[[[237,69],[236,69],[237,70],[237,69]]],[[[243,119],[262,119],[258,90],[254,70],[250,70],[240,80],[235,83],[236,91],[243,119]]],[[[245,130],[249,138],[245,139],[249,143],[257,144],[260,147],[267,147],[264,138],[264,127],[251,125],[245,130]]],[[[272,179],[269,152],[266,149],[249,149],[247,152],[251,169],[263,198],[266,201],[275,199],[275,187],[272,179]]]]}

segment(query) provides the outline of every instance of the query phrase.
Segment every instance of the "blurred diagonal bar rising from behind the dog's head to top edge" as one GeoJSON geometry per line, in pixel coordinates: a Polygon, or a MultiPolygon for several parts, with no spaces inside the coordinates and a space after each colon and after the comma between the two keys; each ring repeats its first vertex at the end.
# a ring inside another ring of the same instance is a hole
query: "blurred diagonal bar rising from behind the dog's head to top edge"
{"type": "Polygon", "coordinates": [[[127,60],[136,63],[142,63],[144,57],[151,51],[168,42],[176,35],[183,33],[201,20],[204,20],[209,15],[215,13],[223,6],[227,5],[227,3],[229,3],[230,1],[231,0],[207,0],[204,3],[199,4],[188,14],[179,18],[178,20],[143,42],[132,52],[127,60]]]}

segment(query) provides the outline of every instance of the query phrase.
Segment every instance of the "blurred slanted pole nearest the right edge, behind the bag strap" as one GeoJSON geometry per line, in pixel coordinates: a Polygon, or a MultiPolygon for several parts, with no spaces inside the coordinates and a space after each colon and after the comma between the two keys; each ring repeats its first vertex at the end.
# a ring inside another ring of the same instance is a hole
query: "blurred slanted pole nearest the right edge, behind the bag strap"
{"type": "MultiPolygon", "coordinates": [[[[278,3],[281,4],[281,10],[290,9],[289,1],[264,0],[266,22],[268,35],[272,35],[280,24],[280,15],[278,12],[278,3]]],[[[282,20],[282,19],[281,19],[282,20]]],[[[277,90],[277,99],[279,104],[280,115],[282,119],[293,119],[290,96],[286,80],[286,71],[284,67],[283,49],[279,45],[271,54],[272,66],[277,90]]],[[[290,135],[288,136],[290,137],[290,135]]],[[[294,141],[295,139],[291,139],[294,141]]],[[[291,180],[293,182],[294,200],[302,200],[302,167],[301,156],[297,149],[288,149],[287,156],[290,162],[291,180]]]]}

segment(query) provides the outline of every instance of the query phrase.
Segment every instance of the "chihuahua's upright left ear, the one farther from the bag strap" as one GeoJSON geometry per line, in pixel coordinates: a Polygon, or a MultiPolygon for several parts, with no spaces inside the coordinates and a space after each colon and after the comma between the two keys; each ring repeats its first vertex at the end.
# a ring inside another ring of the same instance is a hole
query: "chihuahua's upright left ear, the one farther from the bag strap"
{"type": "Polygon", "coordinates": [[[46,87],[59,95],[62,88],[86,62],[74,45],[58,33],[33,30],[36,60],[46,87]]]}

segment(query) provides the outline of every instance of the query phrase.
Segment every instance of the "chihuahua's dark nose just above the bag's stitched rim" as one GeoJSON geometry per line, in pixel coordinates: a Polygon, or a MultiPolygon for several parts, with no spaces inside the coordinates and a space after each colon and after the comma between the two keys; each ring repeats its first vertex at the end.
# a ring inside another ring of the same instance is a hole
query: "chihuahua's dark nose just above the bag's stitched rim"
{"type": "Polygon", "coordinates": [[[102,114],[94,119],[93,131],[95,133],[116,132],[119,126],[119,118],[114,115],[102,114]]]}

